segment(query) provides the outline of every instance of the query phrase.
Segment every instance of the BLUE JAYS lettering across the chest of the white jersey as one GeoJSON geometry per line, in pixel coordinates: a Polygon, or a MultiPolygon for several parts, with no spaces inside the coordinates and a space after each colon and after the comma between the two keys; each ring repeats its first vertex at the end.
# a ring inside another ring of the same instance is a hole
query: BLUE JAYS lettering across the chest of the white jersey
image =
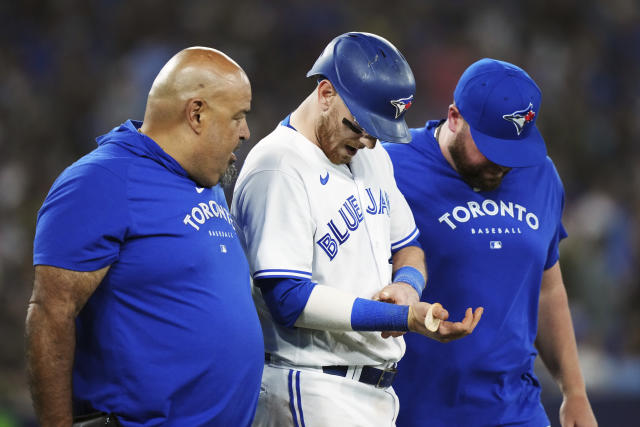
{"type": "MultiPolygon", "coordinates": [[[[376,191],[376,196],[371,188],[365,189],[369,196],[368,205],[365,212],[369,215],[387,215],[390,216],[391,204],[389,202],[389,193],[382,188],[376,191]]],[[[360,223],[364,221],[362,208],[357,198],[352,194],[342,203],[338,209],[339,217],[342,219],[331,219],[327,223],[329,232],[325,233],[316,243],[327,254],[330,260],[338,255],[338,248],[344,244],[350,236],[350,232],[356,231],[360,223]],[[335,221],[334,221],[335,220],[335,221]],[[336,225],[336,221],[339,225],[336,225]]]]}

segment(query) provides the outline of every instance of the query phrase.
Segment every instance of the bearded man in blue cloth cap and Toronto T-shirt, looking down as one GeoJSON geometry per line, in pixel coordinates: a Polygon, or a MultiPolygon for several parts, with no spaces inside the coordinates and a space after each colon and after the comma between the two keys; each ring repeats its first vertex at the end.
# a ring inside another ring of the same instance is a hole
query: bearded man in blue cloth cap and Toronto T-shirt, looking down
{"type": "Polygon", "coordinates": [[[453,316],[471,301],[486,309],[465,340],[407,336],[399,426],[549,426],[538,353],[564,396],[561,425],[596,425],[558,263],[564,190],[536,127],[540,99],[524,70],[482,59],[446,119],[411,129],[410,144],[384,144],[422,232],[422,300],[453,316]]]}

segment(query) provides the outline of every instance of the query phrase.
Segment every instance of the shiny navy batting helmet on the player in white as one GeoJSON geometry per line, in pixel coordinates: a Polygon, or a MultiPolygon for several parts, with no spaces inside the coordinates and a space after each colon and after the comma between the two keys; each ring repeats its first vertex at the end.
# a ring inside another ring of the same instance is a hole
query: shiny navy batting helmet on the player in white
{"type": "Polygon", "coordinates": [[[407,60],[387,40],[355,32],[336,37],[307,73],[318,75],[331,82],[369,135],[411,141],[404,112],[413,102],[416,82],[407,60]]]}

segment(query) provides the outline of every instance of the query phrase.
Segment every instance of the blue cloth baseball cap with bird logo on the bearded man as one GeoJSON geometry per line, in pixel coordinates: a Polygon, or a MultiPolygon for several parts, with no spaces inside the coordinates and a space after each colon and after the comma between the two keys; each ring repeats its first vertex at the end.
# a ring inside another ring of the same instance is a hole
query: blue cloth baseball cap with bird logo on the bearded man
{"type": "Polygon", "coordinates": [[[471,64],[453,93],[480,152],[506,167],[535,166],[546,158],[536,127],[541,97],[522,68],[490,58],[471,64]]]}

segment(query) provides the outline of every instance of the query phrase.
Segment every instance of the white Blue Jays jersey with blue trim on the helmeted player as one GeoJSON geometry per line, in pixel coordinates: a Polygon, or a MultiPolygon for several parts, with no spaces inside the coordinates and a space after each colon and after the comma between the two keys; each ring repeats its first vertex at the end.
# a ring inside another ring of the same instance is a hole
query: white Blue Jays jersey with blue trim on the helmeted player
{"type": "MultiPolygon", "coordinates": [[[[329,161],[294,129],[279,125],[249,153],[232,203],[254,279],[310,279],[370,299],[391,282],[391,249],[418,235],[381,144],[349,166],[329,161]]],[[[265,351],[296,366],[398,361],[402,337],[276,324],[254,289],[265,351]]]]}

